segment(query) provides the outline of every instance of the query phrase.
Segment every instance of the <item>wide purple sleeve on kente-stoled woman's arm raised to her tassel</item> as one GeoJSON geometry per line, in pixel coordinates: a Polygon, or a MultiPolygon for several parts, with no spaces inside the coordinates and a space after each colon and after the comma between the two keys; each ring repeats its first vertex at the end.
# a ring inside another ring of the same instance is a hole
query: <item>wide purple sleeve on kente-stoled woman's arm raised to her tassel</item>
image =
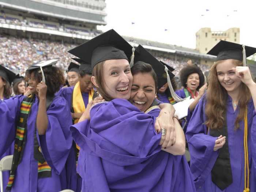
{"type": "Polygon", "coordinates": [[[64,98],[55,97],[47,110],[48,126],[45,135],[37,135],[42,153],[50,167],[60,174],[72,146],[69,127],[71,114],[64,98]]]}

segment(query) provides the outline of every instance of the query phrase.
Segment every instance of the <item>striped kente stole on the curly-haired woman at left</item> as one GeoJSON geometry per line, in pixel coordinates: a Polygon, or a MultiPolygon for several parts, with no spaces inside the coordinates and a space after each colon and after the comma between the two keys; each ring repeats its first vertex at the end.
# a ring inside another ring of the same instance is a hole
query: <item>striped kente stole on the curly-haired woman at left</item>
{"type": "MultiPolygon", "coordinates": [[[[27,118],[29,117],[31,106],[33,105],[35,95],[29,95],[29,97],[25,97],[20,105],[20,114],[19,114],[19,121],[17,122],[16,127],[16,136],[15,136],[15,143],[14,143],[14,155],[12,159],[12,167],[11,173],[9,177],[9,181],[6,187],[6,191],[11,191],[14,179],[15,179],[15,172],[22,161],[22,156],[24,152],[24,148],[27,141],[27,118]]],[[[45,161],[42,153],[41,148],[39,147],[37,135],[36,135],[36,128],[35,128],[35,135],[34,135],[34,148],[37,146],[37,150],[34,150],[34,158],[38,161],[38,178],[42,177],[51,177],[51,168],[45,161]],[[40,151],[39,151],[40,150],[40,151]],[[37,153],[39,151],[39,154],[37,153]]]]}

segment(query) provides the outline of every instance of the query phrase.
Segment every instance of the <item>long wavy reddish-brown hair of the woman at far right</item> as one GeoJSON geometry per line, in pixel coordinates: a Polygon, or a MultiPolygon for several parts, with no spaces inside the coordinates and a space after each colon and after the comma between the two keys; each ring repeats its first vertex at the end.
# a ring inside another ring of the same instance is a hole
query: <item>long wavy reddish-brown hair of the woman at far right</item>
{"type": "MultiPolygon", "coordinates": [[[[242,62],[239,60],[230,60],[236,66],[242,66],[242,62]]],[[[206,117],[207,121],[205,122],[206,126],[210,129],[222,128],[225,124],[226,117],[224,117],[226,112],[226,102],[227,102],[227,91],[219,83],[217,76],[216,66],[222,61],[217,61],[212,65],[210,73],[208,76],[209,85],[206,95],[206,117]],[[214,94],[213,94],[214,93],[214,94]]],[[[240,84],[241,93],[243,97],[240,97],[239,108],[240,112],[236,118],[235,129],[239,128],[239,122],[244,118],[244,113],[246,105],[251,98],[251,92],[249,88],[241,82],[240,84]]]]}

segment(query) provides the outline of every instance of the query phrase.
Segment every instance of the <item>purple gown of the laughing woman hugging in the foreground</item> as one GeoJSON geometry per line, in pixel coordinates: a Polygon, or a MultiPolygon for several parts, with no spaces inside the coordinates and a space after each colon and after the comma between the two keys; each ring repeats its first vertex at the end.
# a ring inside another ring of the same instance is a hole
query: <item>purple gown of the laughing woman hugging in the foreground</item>
{"type": "Polygon", "coordinates": [[[90,121],[71,126],[83,192],[195,191],[185,157],[161,151],[154,116],[113,99],[94,105],[90,121]]]}

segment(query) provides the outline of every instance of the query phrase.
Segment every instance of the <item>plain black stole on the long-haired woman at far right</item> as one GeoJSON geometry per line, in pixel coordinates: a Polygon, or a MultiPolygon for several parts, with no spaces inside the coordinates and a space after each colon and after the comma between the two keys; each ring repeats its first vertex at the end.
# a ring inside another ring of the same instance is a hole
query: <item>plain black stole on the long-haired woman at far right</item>
{"type": "Polygon", "coordinates": [[[226,136],[226,143],[223,145],[222,148],[218,150],[219,156],[211,170],[212,182],[217,185],[222,191],[233,182],[229,156],[229,140],[227,134],[226,113],[223,117],[225,117],[225,125],[222,129],[210,129],[210,135],[213,137],[219,137],[220,135],[226,136]]]}

